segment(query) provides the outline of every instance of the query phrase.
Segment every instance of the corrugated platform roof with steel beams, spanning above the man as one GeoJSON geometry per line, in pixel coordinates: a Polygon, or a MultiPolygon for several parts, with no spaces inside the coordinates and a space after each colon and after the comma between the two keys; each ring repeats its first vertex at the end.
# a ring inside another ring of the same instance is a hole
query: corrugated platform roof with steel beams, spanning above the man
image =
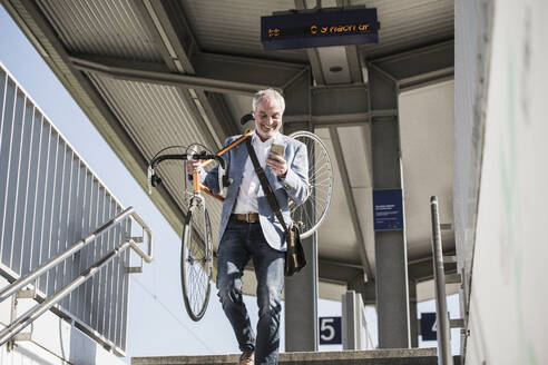
{"type": "MultiPolygon", "coordinates": [[[[333,206],[319,231],[320,279],[374,279],[369,120],[398,111],[370,110],[368,68],[398,80],[401,92],[452,80],[452,0],[0,1],[143,188],[148,161],[162,148],[199,142],[216,149],[243,131],[239,118],[256,90],[288,92],[312,79],[307,95],[290,100],[284,128],[313,129],[334,160],[333,206]],[[319,3],[376,8],[379,43],[263,50],[261,16],[321,11],[319,3]],[[307,112],[302,105],[310,106],[307,112]]],[[[452,134],[452,125],[432,129],[418,122],[402,130],[409,170],[429,165],[417,136],[428,141],[439,132],[452,134]]],[[[434,154],[452,166],[452,147],[437,146],[434,154]]],[[[429,188],[451,201],[446,170],[430,169],[428,186],[413,174],[404,184],[409,270],[417,280],[432,276],[430,218],[419,214],[428,201],[419,197],[429,188]]],[[[166,165],[160,174],[165,185],[151,199],[180,233],[180,167],[166,165]]],[[[216,227],[219,205],[208,204],[216,227]]],[[[442,211],[447,223],[451,209],[448,204],[442,211]]],[[[454,249],[452,236],[449,230],[447,250],[454,249]]]]}

